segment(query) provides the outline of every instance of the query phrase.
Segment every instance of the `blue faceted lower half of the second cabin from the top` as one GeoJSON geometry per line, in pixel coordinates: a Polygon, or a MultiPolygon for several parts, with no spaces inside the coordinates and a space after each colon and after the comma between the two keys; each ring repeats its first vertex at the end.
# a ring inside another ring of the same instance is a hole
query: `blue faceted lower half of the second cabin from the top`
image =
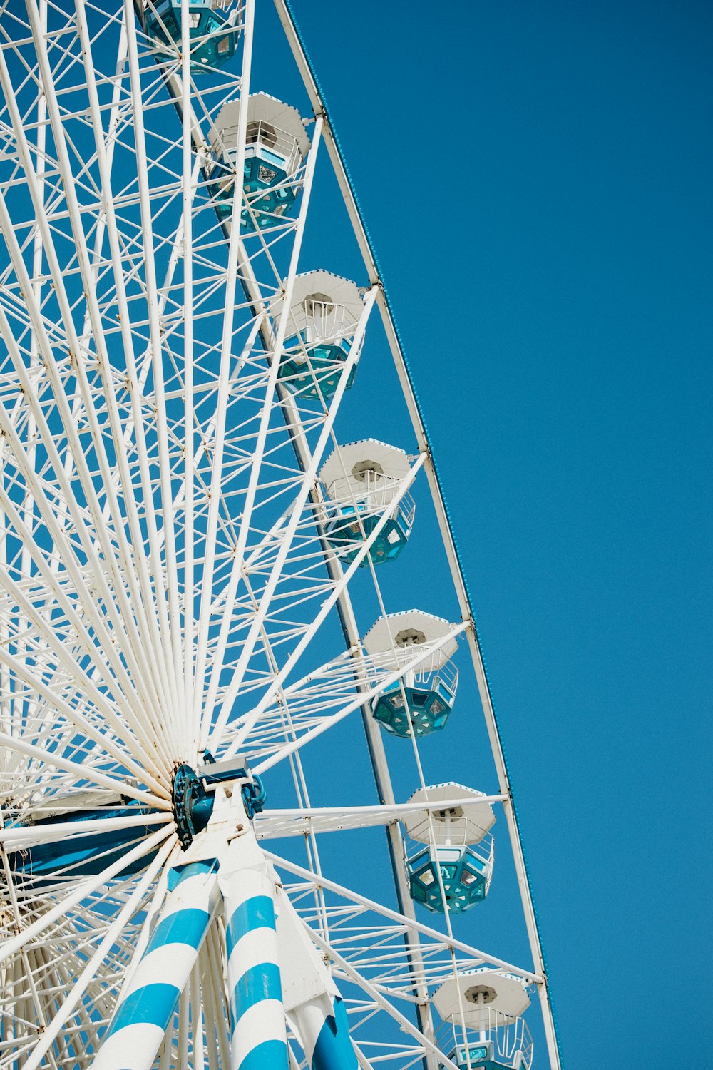
{"type": "MultiPolygon", "coordinates": [[[[289,185],[285,162],[276,153],[260,149],[251,158],[245,160],[243,189],[254,215],[254,221],[247,208],[241,215],[243,231],[251,231],[255,226],[262,230],[274,226],[279,216],[292,208],[299,187],[289,185]]],[[[212,172],[207,190],[214,201],[214,207],[220,219],[227,219],[233,211],[233,193],[235,182],[233,172],[223,164],[218,164],[212,172]]]]}

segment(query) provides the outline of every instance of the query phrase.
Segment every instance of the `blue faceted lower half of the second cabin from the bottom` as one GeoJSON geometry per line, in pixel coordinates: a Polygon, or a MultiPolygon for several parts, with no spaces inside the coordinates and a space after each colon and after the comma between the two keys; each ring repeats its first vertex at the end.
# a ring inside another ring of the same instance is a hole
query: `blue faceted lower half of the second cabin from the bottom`
{"type": "Polygon", "coordinates": [[[414,902],[435,914],[446,913],[437,866],[451,914],[463,914],[485,899],[486,865],[470,847],[424,847],[406,863],[414,902]]]}

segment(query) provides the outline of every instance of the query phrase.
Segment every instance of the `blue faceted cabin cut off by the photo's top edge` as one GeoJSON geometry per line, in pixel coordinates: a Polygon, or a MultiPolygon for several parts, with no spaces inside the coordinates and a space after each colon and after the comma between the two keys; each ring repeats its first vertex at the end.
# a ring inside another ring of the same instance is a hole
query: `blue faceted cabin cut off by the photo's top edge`
{"type": "MultiPolygon", "coordinates": [[[[155,44],[181,45],[181,0],[156,0],[155,13],[146,4],[144,29],[155,44]]],[[[216,7],[214,0],[189,0],[190,70],[201,74],[228,62],[237,48],[239,30],[235,29],[226,12],[216,7]]],[[[162,58],[175,59],[175,52],[161,50],[162,58]]]]}

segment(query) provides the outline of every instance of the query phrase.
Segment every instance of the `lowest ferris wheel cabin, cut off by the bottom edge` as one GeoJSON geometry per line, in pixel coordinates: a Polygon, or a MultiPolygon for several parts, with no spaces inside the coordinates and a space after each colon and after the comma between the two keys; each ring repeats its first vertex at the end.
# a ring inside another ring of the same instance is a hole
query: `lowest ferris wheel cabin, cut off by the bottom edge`
{"type": "Polygon", "coordinates": [[[460,1070],[530,1070],[532,1039],[522,1018],[530,999],[522,977],[467,970],[436,989],[432,1003],[443,1019],[440,1050],[460,1070]]]}

